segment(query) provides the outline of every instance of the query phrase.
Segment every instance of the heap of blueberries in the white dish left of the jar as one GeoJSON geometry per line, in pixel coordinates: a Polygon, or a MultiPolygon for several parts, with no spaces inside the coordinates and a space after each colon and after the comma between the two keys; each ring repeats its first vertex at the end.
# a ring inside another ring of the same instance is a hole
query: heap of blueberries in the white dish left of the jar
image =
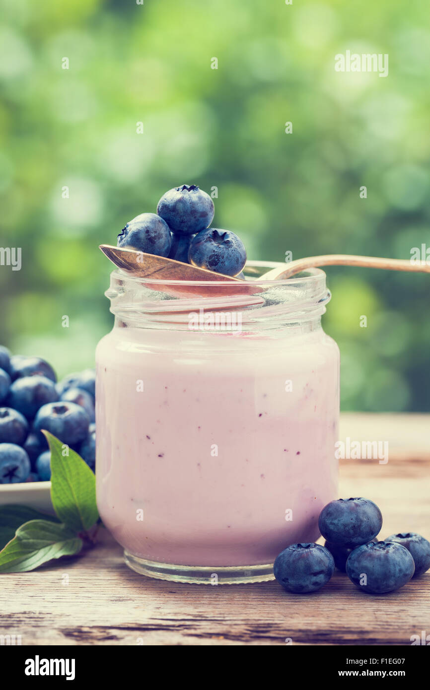
{"type": "Polygon", "coordinates": [[[50,479],[50,451],[41,429],[95,466],[95,371],[57,383],[41,357],[0,346],[0,484],[50,479]]]}

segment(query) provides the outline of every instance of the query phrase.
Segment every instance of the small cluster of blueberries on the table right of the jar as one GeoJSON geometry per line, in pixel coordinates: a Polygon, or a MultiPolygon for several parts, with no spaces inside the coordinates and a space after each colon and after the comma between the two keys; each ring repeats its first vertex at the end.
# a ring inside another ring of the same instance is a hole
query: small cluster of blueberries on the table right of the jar
{"type": "Polygon", "coordinates": [[[329,582],[335,567],[371,594],[399,589],[430,568],[430,542],[419,534],[393,534],[375,539],[382,514],[367,498],[340,498],[320,513],[320,544],[291,544],[276,558],[273,573],[289,592],[317,591],[329,582]]]}

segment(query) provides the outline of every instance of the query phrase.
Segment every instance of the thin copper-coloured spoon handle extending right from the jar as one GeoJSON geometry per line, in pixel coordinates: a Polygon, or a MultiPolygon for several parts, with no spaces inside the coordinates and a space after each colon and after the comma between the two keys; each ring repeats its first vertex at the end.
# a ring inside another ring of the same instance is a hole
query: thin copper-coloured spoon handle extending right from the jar
{"type": "Polygon", "coordinates": [[[411,259],[383,259],[382,257],[360,257],[352,254],[326,254],[319,257],[304,257],[273,268],[262,275],[259,280],[280,280],[291,278],[306,268],[318,266],[364,266],[367,268],[384,268],[387,270],[411,270],[430,273],[430,263],[412,262],[411,259]]]}

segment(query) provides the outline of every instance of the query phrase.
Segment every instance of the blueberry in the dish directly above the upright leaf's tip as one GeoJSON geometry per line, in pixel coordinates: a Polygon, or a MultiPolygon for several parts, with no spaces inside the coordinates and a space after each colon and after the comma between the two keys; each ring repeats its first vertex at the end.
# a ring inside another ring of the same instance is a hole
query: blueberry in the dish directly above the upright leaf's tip
{"type": "Polygon", "coordinates": [[[75,446],[88,434],[89,417],[75,402],[50,402],[37,413],[34,429],[50,431],[68,446],[75,446]]]}

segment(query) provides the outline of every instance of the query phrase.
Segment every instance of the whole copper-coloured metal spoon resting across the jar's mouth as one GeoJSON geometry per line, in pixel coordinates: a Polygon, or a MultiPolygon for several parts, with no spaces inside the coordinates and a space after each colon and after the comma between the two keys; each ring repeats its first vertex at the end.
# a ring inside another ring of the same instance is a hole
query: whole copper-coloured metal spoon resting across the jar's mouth
{"type": "MultiPolygon", "coordinates": [[[[215,273],[206,268],[197,268],[197,266],[175,261],[175,259],[166,259],[165,257],[139,252],[135,249],[122,249],[110,244],[101,244],[100,249],[115,266],[137,276],[155,278],[157,280],[182,280],[186,282],[230,281],[235,283],[235,291],[238,290],[240,293],[243,293],[246,286],[246,282],[241,278],[215,273]]],[[[302,270],[306,270],[306,268],[316,268],[318,266],[364,266],[367,268],[430,273],[430,263],[427,264],[427,262],[414,264],[408,259],[327,254],[317,257],[304,257],[303,259],[295,259],[288,264],[280,264],[276,268],[268,270],[264,275],[256,277],[256,280],[285,280],[291,278],[296,273],[300,273],[302,270]]],[[[251,288],[251,285],[248,287],[251,288]]],[[[222,290],[222,294],[226,295],[226,289],[222,288],[222,290]]],[[[251,292],[255,291],[254,286],[254,288],[251,288],[251,292]]]]}

